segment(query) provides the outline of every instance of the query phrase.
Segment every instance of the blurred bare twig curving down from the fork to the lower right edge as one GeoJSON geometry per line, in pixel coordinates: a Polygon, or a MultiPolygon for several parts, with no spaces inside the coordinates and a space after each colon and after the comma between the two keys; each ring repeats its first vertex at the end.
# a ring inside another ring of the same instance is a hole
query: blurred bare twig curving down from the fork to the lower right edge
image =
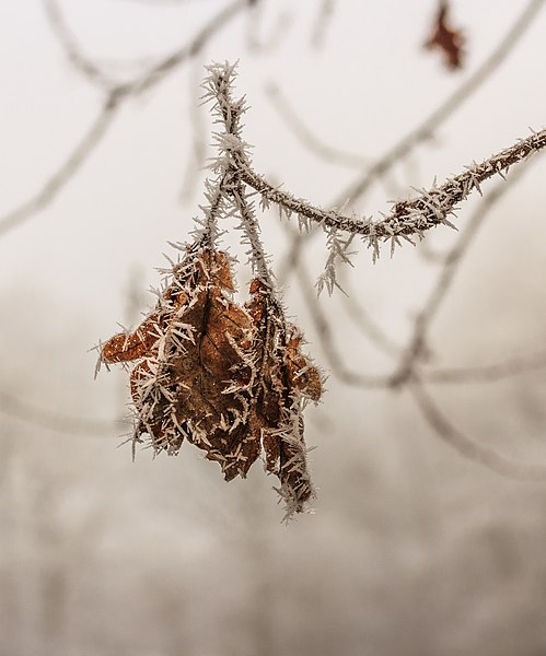
{"type": "Polygon", "coordinates": [[[521,481],[546,481],[546,465],[514,462],[497,452],[476,444],[453,426],[418,378],[411,379],[409,389],[422,415],[435,434],[461,455],[508,478],[521,481]]]}

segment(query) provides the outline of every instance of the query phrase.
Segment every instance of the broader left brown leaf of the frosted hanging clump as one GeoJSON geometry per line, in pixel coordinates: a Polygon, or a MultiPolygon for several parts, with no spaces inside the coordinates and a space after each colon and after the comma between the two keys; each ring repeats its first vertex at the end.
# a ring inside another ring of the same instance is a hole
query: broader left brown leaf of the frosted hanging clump
{"type": "MultiPolygon", "coordinates": [[[[237,440],[245,399],[229,388],[249,378],[243,353],[252,339],[248,315],[228,297],[233,289],[224,253],[189,249],[154,312],[135,332],[103,347],[106,362],[138,360],[131,373],[136,437],[149,434],[156,450],[177,453],[187,437],[222,464],[222,452],[237,440]]],[[[235,475],[252,465],[240,462],[235,475]]]]}

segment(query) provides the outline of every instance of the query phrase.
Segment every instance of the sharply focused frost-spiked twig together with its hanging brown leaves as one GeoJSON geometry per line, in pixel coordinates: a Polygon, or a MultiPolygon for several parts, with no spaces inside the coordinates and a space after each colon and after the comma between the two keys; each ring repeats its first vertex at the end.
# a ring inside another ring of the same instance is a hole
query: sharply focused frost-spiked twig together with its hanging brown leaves
{"type": "Polygon", "coordinates": [[[546,130],[533,133],[442,185],[394,203],[381,220],[323,210],[270,185],[254,172],[243,140],[244,98],[233,97],[235,67],[208,67],[205,99],[212,102],[218,155],[210,166],[204,216],[193,245],[181,247],[155,309],[130,335],[114,336],[102,349],[106,363],[135,362],[131,395],[137,422],[133,442],[148,435],[153,449],[177,454],[186,438],[219,462],[226,480],[245,477],[263,454],[279,478],[287,517],[313,497],[303,438],[303,409],[322,395],[318,371],[301,353],[302,337],[284,317],[270,257],[262,244],[257,206],[270,204],[300,224],[327,235],[326,271],[318,288],[336,285],[336,265],[348,262],[356,235],[373,258],[414,243],[448,219],[493,175],[546,148],[546,130]],[[259,203],[253,197],[258,196],[259,203]],[[218,242],[229,224],[241,232],[253,273],[249,301],[237,305],[228,255],[218,242]]]}

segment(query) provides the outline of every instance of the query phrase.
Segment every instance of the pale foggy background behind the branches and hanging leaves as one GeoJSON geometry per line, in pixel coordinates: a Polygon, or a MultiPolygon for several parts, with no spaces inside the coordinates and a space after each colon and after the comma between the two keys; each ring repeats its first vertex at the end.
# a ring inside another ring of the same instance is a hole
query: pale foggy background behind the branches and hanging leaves
{"type": "MultiPolygon", "coordinates": [[[[59,7],[79,48],[126,80],[189,43],[228,4],[59,7]]],[[[373,161],[473,74],[524,5],[452,0],[467,56],[450,72],[422,48],[432,0],[257,3],[124,102],[73,178],[1,232],[1,656],[546,654],[546,485],[456,453],[407,389],[338,379],[297,277],[287,280],[288,314],[329,377],[305,415],[315,514],[288,527],[259,462],[248,480],[229,484],[189,444],[176,458],[140,449],[132,462],[130,445],[119,446],[130,432],[127,374],[103,370],[95,380],[92,350],[118,321],[139,323],[162,254],[172,255],[167,242],[190,238],[206,175],[196,144],[213,154],[207,107],[196,108],[204,65],[240,61],[256,171],[329,207],[359,169],[317,157],[275,98],[321,142],[373,161]]],[[[70,63],[42,2],[0,3],[0,31],[5,216],[66,161],[104,94],[70,63]]],[[[442,181],[542,129],[545,34],[543,9],[487,81],[353,209],[379,215],[411,186],[442,181]]],[[[432,364],[481,365],[544,348],[545,174],[537,157],[465,253],[431,325],[432,364]]],[[[462,229],[477,203],[466,202],[454,223],[462,229]]],[[[275,210],[262,227],[281,277],[291,233],[275,210]]],[[[244,284],[237,236],[226,243],[244,284]]],[[[444,251],[456,237],[442,227],[426,242],[444,251]]],[[[326,257],[318,236],[305,250],[313,279],[326,257]]],[[[341,279],[404,345],[438,265],[409,244],[371,259],[361,249],[341,279]]],[[[395,363],[362,336],[340,292],[318,304],[347,368],[392,373],[395,363]]],[[[430,391],[474,442],[546,467],[544,368],[430,391]]]]}

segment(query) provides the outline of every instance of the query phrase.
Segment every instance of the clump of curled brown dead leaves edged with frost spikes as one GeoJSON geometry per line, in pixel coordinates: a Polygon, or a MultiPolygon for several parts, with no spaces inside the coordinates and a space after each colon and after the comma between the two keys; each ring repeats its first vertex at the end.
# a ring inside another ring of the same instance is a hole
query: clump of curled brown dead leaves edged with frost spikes
{"type": "Polygon", "coordinates": [[[300,352],[301,335],[258,280],[240,306],[225,253],[197,242],[173,267],[156,307],[137,330],[102,348],[106,363],[135,361],[135,442],[177,454],[186,438],[245,478],[259,455],[280,480],[287,517],[313,495],[302,409],[321,376],[300,352]]]}

